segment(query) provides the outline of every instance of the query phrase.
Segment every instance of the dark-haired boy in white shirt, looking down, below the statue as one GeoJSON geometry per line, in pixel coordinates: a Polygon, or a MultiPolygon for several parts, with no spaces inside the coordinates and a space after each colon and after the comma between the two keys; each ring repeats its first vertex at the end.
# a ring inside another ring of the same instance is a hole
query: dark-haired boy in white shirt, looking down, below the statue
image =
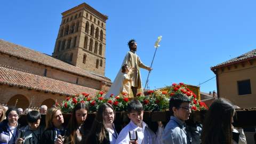
{"type": "Polygon", "coordinates": [[[156,134],[151,131],[148,125],[143,122],[143,106],[138,100],[131,100],[127,106],[128,117],[131,119],[130,123],[127,124],[122,131],[119,133],[116,140],[116,144],[121,143],[161,143],[156,134]],[[137,132],[138,139],[136,141],[131,140],[129,136],[137,132]]]}

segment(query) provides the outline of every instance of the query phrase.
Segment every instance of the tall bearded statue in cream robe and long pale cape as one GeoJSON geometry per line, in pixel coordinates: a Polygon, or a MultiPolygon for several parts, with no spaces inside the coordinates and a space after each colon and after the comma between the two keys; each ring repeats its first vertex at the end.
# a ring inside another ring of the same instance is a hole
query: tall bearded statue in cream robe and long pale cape
{"type": "MultiPolygon", "coordinates": [[[[129,69],[129,77],[131,79],[130,90],[131,92],[128,94],[128,97],[136,97],[137,93],[143,94],[141,76],[140,76],[140,68],[147,69],[151,71],[152,69],[146,65],[144,65],[139,56],[135,53],[137,51],[137,43],[134,39],[131,39],[128,43],[130,51],[125,55],[122,66],[126,65],[129,69]]],[[[109,97],[111,94],[119,95],[123,91],[123,73],[122,68],[119,70],[113,84],[110,87],[110,90],[106,94],[105,97],[109,97]]],[[[129,90],[129,91],[130,91],[129,90]]]]}

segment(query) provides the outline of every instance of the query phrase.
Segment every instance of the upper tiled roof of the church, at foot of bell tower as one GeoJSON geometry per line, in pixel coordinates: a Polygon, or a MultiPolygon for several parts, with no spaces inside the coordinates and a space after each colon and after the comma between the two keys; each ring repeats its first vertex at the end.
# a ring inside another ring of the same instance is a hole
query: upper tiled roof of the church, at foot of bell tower
{"type": "Polygon", "coordinates": [[[0,39],[0,52],[13,55],[14,57],[18,57],[21,59],[41,63],[42,65],[45,65],[45,66],[50,66],[63,71],[67,71],[68,73],[90,77],[93,79],[97,79],[99,81],[111,82],[110,79],[105,76],[92,74],[87,70],[84,70],[79,67],[75,67],[66,62],[55,59],[50,55],[28,49],[27,47],[23,47],[14,43],[6,42],[6,41],[3,41],[2,39],[0,39]]]}

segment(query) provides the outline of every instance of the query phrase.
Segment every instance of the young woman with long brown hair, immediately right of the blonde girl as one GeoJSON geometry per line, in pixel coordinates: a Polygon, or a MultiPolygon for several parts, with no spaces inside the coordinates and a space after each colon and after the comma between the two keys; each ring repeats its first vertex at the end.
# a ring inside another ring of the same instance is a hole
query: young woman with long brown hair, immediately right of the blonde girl
{"type": "Polygon", "coordinates": [[[87,111],[88,107],[85,105],[85,103],[77,103],[77,105],[74,107],[67,129],[68,138],[64,143],[82,143],[82,138],[84,138],[86,135],[83,124],[87,117],[87,111]]]}

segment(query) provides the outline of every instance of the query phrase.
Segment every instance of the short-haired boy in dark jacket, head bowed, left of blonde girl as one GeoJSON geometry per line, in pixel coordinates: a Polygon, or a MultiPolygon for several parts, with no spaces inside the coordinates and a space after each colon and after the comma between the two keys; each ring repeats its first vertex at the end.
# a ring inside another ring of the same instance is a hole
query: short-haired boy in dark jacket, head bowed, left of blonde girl
{"type": "Polygon", "coordinates": [[[27,114],[27,122],[28,125],[21,127],[21,131],[23,132],[23,137],[20,135],[19,139],[17,139],[17,143],[21,144],[37,144],[40,142],[41,136],[44,131],[44,127],[40,126],[41,115],[39,111],[32,110],[27,114]]]}

